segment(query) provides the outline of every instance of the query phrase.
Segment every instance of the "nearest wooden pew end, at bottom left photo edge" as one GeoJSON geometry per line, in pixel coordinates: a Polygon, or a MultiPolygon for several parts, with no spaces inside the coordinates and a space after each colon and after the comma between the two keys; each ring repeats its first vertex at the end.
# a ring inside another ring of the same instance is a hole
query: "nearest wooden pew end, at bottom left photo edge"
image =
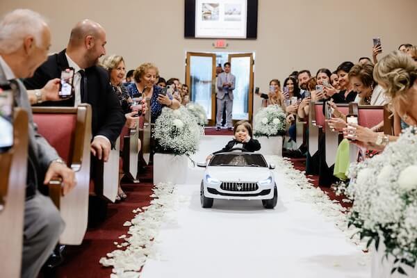
{"type": "Polygon", "coordinates": [[[1,277],[20,277],[28,155],[28,114],[15,108],[14,145],[0,154],[1,277]]]}

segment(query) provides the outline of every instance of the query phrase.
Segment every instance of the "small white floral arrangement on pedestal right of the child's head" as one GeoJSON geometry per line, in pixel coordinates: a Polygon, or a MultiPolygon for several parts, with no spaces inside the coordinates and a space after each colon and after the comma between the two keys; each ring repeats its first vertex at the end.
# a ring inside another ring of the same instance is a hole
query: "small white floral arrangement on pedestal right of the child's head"
{"type": "Polygon", "coordinates": [[[285,126],[285,113],[278,105],[261,108],[254,116],[254,136],[281,136],[285,126]]]}

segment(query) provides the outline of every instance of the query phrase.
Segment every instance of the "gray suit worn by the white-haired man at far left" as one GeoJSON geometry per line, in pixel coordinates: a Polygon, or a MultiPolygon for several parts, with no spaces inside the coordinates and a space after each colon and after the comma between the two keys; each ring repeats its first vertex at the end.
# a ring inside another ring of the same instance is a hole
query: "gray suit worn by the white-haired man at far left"
{"type": "MultiPolygon", "coordinates": [[[[8,80],[0,65],[0,82],[8,80]]],[[[58,159],[56,150],[37,133],[33,123],[32,109],[26,88],[21,81],[13,79],[15,105],[28,113],[28,174],[26,179],[26,201],[24,209],[24,240],[22,255],[22,277],[37,277],[42,265],[52,254],[64,222],[49,197],[38,191],[49,164],[58,159]]],[[[13,236],[13,235],[11,235],[13,236]]]]}

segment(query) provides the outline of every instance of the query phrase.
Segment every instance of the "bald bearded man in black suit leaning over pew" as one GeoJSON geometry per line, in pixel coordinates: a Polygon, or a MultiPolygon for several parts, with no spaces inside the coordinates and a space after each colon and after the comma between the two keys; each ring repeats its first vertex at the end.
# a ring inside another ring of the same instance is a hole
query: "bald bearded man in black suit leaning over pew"
{"type": "Polygon", "coordinates": [[[51,79],[60,78],[62,70],[74,68],[74,97],[43,102],[42,106],[92,106],[91,152],[108,161],[111,146],[124,126],[125,117],[113,92],[108,72],[97,65],[106,54],[106,31],[97,22],[85,19],[72,29],[67,49],[49,56],[34,76],[24,80],[27,89],[40,89],[51,79]]]}

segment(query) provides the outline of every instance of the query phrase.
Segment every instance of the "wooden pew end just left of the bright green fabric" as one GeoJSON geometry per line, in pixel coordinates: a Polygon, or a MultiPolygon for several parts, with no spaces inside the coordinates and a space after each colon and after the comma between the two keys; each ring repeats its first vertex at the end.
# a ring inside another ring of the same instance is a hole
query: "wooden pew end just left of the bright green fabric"
{"type": "MultiPolygon", "coordinates": [[[[351,106],[349,104],[336,104],[338,107],[338,111],[347,115],[348,113],[352,113],[353,111],[350,110],[351,106]]],[[[338,131],[333,131],[329,123],[325,122],[325,157],[327,166],[332,166],[336,161],[336,152],[340,142],[340,136],[338,131]]]]}

